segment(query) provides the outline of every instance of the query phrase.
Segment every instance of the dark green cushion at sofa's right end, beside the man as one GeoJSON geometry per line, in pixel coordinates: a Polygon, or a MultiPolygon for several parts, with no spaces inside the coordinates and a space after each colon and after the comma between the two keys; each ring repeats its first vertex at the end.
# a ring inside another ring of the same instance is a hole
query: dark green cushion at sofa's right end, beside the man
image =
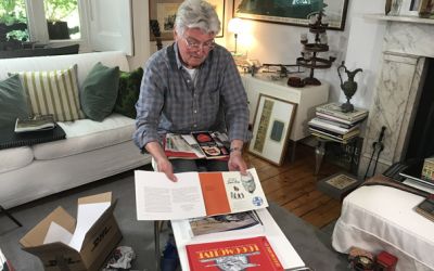
{"type": "Polygon", "coordinates": [[[120,72],[119,93],[117,94],[114,112],[136,118],[136,103],[139,100],[142,77],[143,68],[141,67],[130,73],[120,72]]]}

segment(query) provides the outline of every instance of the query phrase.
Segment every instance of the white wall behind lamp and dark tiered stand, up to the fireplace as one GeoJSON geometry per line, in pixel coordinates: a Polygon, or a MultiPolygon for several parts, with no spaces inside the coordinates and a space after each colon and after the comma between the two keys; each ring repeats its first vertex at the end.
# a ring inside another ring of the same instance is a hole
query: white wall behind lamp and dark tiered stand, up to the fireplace
{"type": "MultiPolygon", "coordinates": [[[[228,18],[232,15],[232,1],[229,2],[228,18]]],[[[330,51],[322,57],[334,55],[336,61],[330,69],[316,69],[315,77],[331,83],[329,101],[345,101],[336,72],[344,60],[348,69],[358,67],[363,69],[362,74],[356,76],[359,89],[352,102],[367,108],[371,106],[385,26],[382,22],[366,20],[363,15],[384,13],[384,4],[385,0],[349,0],[344,31],[328,30],[330,51]]],[[[243,21],[247,25],[247,30],[239,38],[239,51],[260,63],[295,64],[303,50],[299,35],[308,33],[307,27],[243,21]]],[[[232,49],[233,35],[227,33],[226,39],[228,48],[232,49]]],[[[307,77],[308,74],[294,76],[307,77]]],[[[346,79],[346,75],[343,78],[346,79]]]]}

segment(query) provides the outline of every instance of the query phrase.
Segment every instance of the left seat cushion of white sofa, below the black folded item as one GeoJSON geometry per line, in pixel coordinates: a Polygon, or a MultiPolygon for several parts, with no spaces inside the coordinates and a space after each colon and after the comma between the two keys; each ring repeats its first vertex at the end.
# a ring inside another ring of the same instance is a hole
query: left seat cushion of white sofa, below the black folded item
{"type": "Polygon", "coordinates": [[[4,149],[0,151],[0,173],[20,169],[34,160],[29,146],[4,149]]]}

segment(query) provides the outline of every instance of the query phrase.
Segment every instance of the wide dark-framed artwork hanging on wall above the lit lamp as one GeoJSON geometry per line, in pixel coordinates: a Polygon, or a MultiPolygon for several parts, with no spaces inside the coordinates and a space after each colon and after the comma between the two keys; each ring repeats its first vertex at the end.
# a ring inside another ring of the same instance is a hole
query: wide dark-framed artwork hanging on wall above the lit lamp
{"type": "Polygon", "coordinates": [[[329,29],[344,30],[348,0],[234,0],[233,16],[267,23],[308,26],[311,14],[323,11],[329,29]]]}

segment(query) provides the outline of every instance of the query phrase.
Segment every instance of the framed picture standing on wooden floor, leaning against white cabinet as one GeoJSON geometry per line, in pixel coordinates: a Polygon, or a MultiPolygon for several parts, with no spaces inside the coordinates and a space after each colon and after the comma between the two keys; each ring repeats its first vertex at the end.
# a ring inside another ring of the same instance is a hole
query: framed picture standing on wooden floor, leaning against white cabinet
{"type": "Polygon", "coordinates": [[[280,166],[288,147],[296,104],[260,93],[248,152],[280,166]]]}

